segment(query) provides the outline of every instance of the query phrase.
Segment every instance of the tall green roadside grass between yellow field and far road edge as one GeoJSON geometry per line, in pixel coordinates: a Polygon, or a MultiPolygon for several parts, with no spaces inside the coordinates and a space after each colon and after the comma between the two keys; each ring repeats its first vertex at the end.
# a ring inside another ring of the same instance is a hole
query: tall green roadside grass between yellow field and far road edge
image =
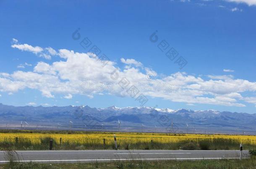
{"type": "MultiPolygon", "coordinates": [[[[91,150],[91,149],[115,149],[114,141],[105,145],[101,139],[88,140],[84,139],[60,141],[50,137],[41,136],[39,142],[33,142],[29,138],[19,137],[18,141],[5,139],[0,141],[0,150],[48,150],[50,140],[53,140],[53,150],[91,150]]],[[[177,142],[158,142],[158,141],[119,141],[118,149],[142,149],[142,150],[238,150],[240,140],[238,139],[200,139],[200,140],[183,140],[177,142]]],[[[255,144],[243,144],[243,149],[256,149],[255,144]]]]}

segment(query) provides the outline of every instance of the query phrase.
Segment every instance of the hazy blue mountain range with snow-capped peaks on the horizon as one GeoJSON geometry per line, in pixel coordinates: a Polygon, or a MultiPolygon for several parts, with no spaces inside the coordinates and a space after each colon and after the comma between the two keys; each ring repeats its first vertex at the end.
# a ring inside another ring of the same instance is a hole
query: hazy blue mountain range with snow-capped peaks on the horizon
{"type": "Polygon", "coordinates": [[[8,106],[0,103],[1,128],[256,134],[256,114],[169,108],[8,106]],[[21,127],[21,123],[23,126],[21,127]]]}

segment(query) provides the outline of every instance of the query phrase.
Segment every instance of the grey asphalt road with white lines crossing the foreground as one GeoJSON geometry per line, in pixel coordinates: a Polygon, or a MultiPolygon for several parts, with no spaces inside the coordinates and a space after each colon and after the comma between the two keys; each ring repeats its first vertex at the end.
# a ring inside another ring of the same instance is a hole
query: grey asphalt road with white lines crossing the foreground
{"type": "MultiPolygon", "coordinates": [[[[16,151],[15,160],[41,163],[101,162],[112,160],[201,160],[238,159],[240,151],[232,150],[84,150],[84,151],[16,151]]],[[[248,151],[243,151],[243,158],[248,151]]],[[[5,151],[0,151],[0,163],[8,162],[5,151]]]]}

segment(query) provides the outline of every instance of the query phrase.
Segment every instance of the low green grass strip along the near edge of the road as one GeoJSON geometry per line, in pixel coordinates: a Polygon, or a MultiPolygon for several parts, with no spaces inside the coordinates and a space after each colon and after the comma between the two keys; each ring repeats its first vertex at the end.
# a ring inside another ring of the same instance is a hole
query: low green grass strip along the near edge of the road
{"type": "Polygon", "coordinates": [[[12,163],[0,165],[0,169],[255,169],[255,156],[249,159],[221,159],[196,161],[111,161],[108,163],[38,164],[12,163]]]}

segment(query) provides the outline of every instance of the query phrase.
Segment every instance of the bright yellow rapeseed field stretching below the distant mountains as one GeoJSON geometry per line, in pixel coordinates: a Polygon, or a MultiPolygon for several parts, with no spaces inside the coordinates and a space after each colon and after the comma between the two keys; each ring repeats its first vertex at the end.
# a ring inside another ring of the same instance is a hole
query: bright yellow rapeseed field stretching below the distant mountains
{"type": "MultiPolygon", "coordinates": [[[[40,134],[40,133],[0,133],[0,142],[15,142],[15,138],[28,139],[33,144],[39,144],[40,138],[50,137],[58,143],[60,138],[62,142],[79,143],[79,144],[102,144],[105,139],[106,144],[113,142],[114,133],[87,132],[75,134],[40,134]]],[[[137,143],[137,142],[154,142],[170,143],[178,141],[200,141],[203,139],[235,139],[244,144],[256,145],[256,136],[246,135],[205,135],[205,134],[153,134],[153,133],[115,133],[119,142],[137,143]]]]}

